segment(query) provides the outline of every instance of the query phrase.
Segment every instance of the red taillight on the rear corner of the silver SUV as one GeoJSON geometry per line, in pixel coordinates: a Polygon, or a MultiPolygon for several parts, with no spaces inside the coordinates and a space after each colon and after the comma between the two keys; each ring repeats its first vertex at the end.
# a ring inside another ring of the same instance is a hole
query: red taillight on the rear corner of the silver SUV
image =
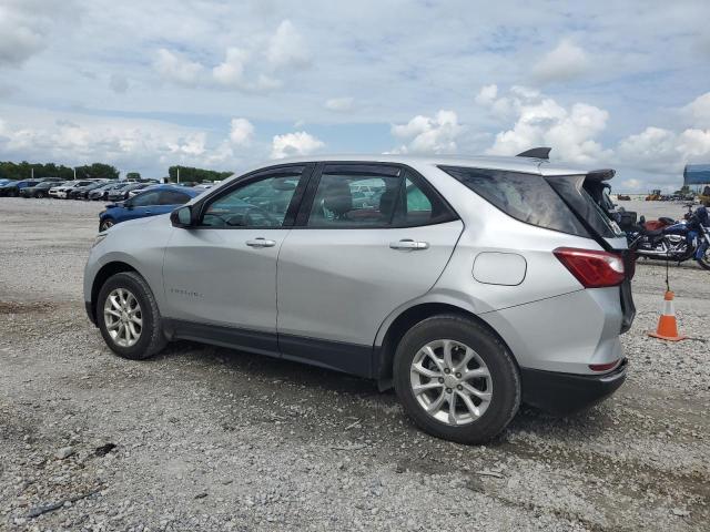
{"type": "Polygon", "coordinates": [[[620,255],[574,247],[558,247],[552,253],[585,288],[617,286],[623,282],[620,255]]]}

